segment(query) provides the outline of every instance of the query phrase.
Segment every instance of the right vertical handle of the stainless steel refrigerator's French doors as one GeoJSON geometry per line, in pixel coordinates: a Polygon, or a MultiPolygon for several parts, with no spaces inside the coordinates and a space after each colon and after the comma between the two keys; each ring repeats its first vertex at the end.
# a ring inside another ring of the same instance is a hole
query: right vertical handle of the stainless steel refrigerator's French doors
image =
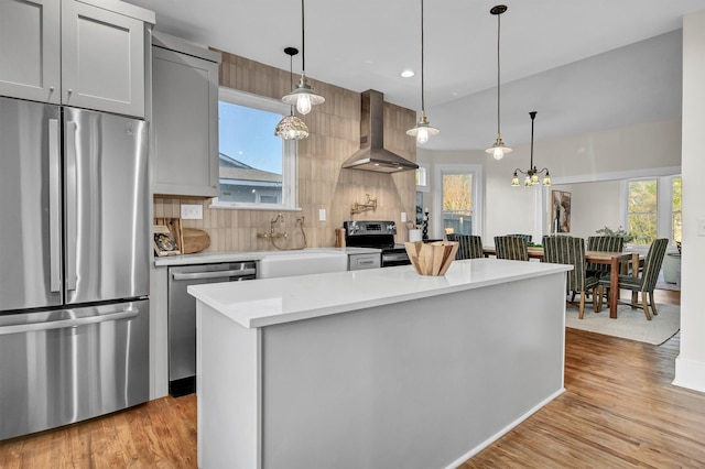
{"type": "Polygon", "coordinates": [[[66,291],[76,290],[78,200],[76,194],[76,122],[66,122],[66,291]]]}

